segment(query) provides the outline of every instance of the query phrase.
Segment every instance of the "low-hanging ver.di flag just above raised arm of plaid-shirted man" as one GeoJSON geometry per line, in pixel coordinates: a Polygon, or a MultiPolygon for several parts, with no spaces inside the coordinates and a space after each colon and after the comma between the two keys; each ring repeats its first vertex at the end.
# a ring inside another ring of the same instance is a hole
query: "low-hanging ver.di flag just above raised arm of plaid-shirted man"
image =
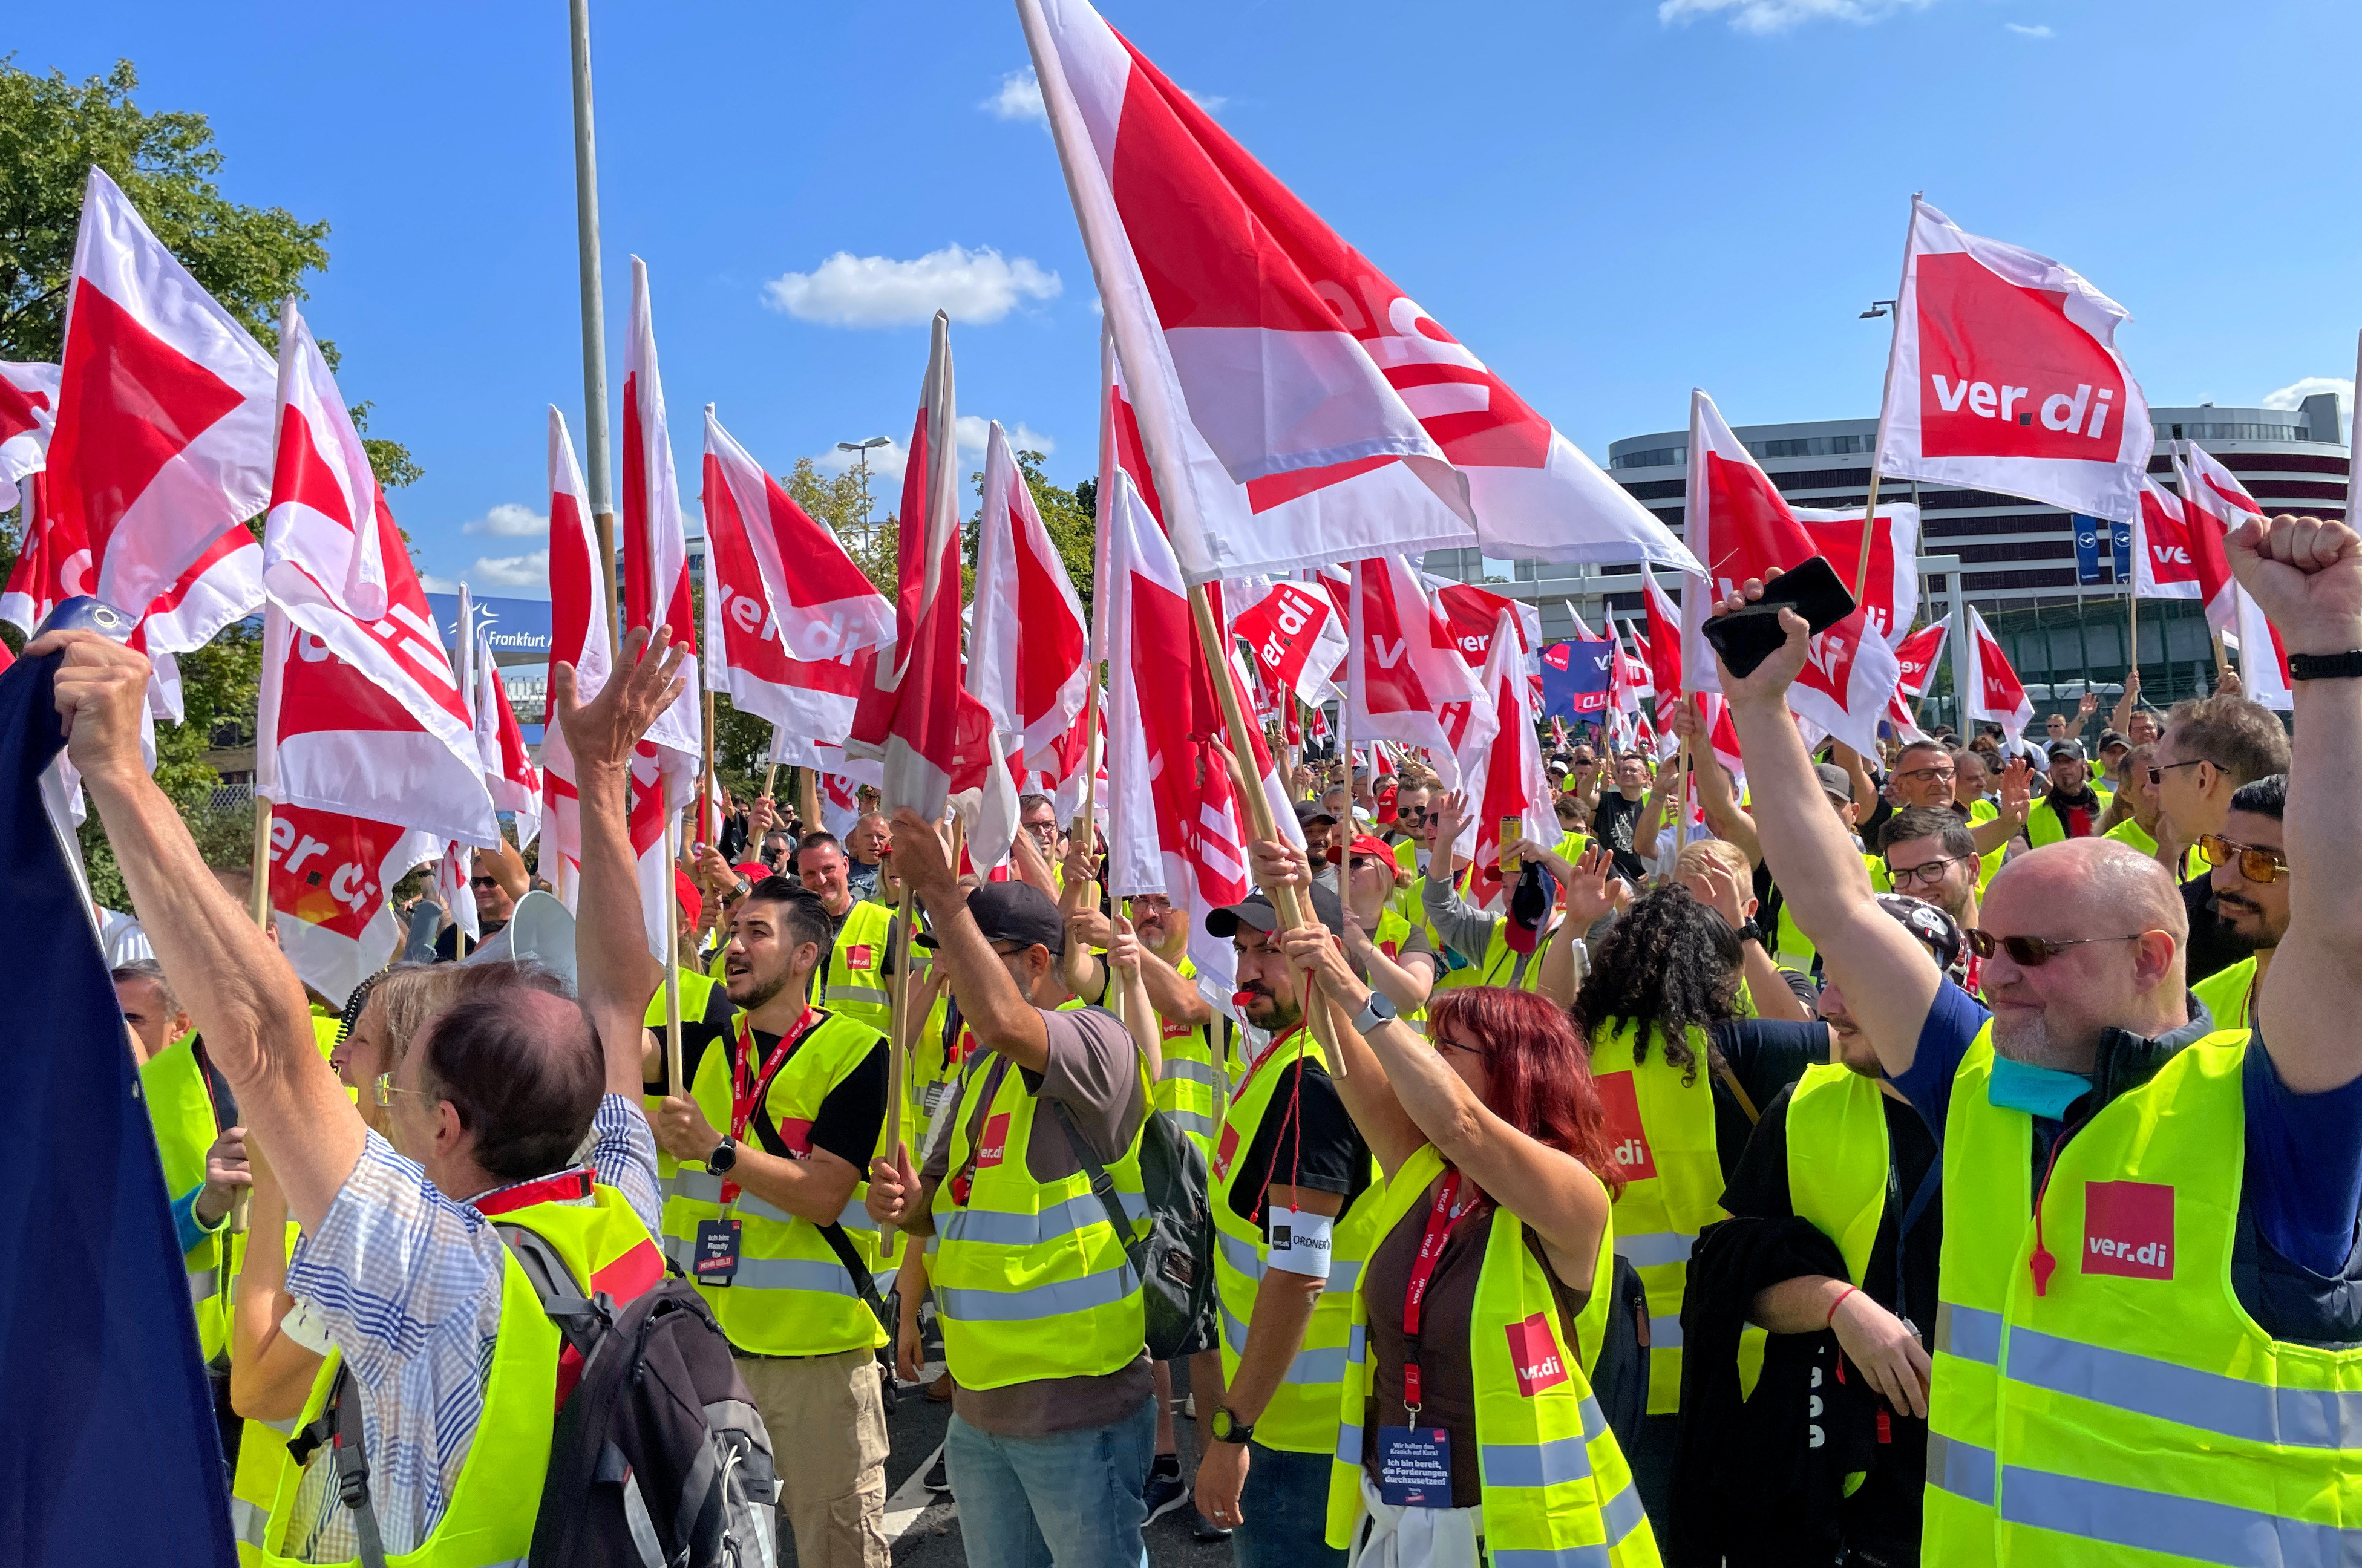
{"type": "MultiPolygon", "coordinates": [[[[272,926],[295,978],[342,1006],[385,968],[402,940],[387,897],[411,867],[435,860],[432,834],[309,805],[272,810],[272,926]]],[[[465,883],[454,904],[475,919],[465,883]]]]}

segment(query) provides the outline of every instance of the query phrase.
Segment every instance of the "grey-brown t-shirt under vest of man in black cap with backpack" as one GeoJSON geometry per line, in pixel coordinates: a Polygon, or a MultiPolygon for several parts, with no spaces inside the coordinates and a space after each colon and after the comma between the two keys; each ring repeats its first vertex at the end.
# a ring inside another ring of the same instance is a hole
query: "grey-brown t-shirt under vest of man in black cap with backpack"
{"type": "MultiPolygon", "coordinates": [[[[1141,1048],[1115,1013],[1105,1008],[1042,1011],[1049,1030],[1049,1060],[1042,1072],[1016,1067],[1023,1074],[1025,1093],[1044,1096],[1065,1105],[1082,1133],[1091,1157],[1115,1164],[1141,1136],[1148,1119],[1148,1089],[1141,1082],[1141,1048]]],[[[1004,1074],[1009,1058],[978,1051],[968,1058],[968,1072],[1004,1074]]],[[[990,1082],[990,1079],[987,1079],[990,1082]]],[[[985,1112],[999,1091],[976,1096],[976,1112],[968,1119],[968,1145],[983,1136],[985,1112]]],[[[1065,1138],[1065,1126],[1056,1115],[1035,1115],[1025,1138],[1025,1171],[1039,1183],[1065,1181],[1082,1169],[1075,1148],[1065,1138]]],[[[938,1138],[935,1150],[919,1174],[921,1202],[935,1202],[935,1188],[952,1174],[952,1138],[938,1138]]],[[[1098,1377],[1049,1377],[1006,1389],[952,1386],[952,1410],[978,1431],[1001,1438],[1042,1438],[1053,1431],[1087,1431],[1113,1426],[1153,1398],[1148,1377],[1148,1353],[1131,1365],[1098,1377]]]]}

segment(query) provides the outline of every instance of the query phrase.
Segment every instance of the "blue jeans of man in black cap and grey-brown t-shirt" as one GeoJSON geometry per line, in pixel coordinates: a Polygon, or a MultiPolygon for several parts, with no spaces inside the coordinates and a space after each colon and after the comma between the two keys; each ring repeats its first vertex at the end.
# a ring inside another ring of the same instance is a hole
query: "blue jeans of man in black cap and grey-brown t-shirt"
{"type": "Polygon", "coordinates": [[[1113,1426],[1049,1438],[994,1438],[954,1415],[942,1457],[968,1568],[1146,1568],[1141,1488],[1155,1448],[1155,1398],[1113,1426]]]}

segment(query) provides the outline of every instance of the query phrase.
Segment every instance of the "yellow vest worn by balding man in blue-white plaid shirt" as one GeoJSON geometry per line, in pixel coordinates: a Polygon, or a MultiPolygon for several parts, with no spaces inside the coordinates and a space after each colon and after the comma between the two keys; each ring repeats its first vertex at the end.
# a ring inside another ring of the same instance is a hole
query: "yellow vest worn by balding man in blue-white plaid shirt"
{"type": "MultiPolygon", "coordinates": [[[[664,1278],[647,1228],[614,1188],[593,1185],[586,1204],[536,1202],[489,1219],[548,1240],[583,1294],[607,1292],[616,1301],[628,1301],[664,1278]]],[[[451,1502],[425,1542],[416,1551],[390,1556],[390,1568],[513,1568],[531,1554],[541,1481],[550,1466],[550,1433],[557,1426],[562,1348],[557,1325],[541,1311],[541,1296],[534,1294],[524,1268],[515,1256],[503,1256],[501,1327],[491,1344],[484,1410],[468,1443],[468,1459],[451,1483],[451,1502]]],[[[340,1365],[342,1355],[328,1351],[319,1377],[312,1379],[312,1398],[305,1400],[298,1431],[326,1410],[340,1365]]],[[[333,1443],[321,1443],[312,1452],[309,1466],[319,1464],[335,1464],[333,1443]]],[[[328,1485],[335,1485],[333,1469],[328,1485]]],[[[302,1471],[286,1464],[262,1549],[241,1561],[260,1568],[298,1568],[302,1559],[293,1554],[302,1551],[305,1542],[291,1535],[300,1490],[302,1471]]],[[[359,1559],[345,1563],[357,1566],[359,1559]]]]}

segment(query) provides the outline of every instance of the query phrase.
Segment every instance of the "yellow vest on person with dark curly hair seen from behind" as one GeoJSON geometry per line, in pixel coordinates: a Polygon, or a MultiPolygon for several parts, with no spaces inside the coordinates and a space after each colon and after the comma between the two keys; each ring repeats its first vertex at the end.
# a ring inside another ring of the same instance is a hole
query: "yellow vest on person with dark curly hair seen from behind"
{"type": "Polygon", "coordinates": [[[1609,1112],[1609,1143],[1623,1167],[1616,1252],[1649,1292],[1649,1415],[1682,1407],[1682,1294],[1698,1230],[1722,1219],[1722,1157],[1715,1150],[1715,1072],[1703,1030],[1689,1032],[1696,1070],[1665,1060],[1663,1037],[1635,1065],[1632,1025],[1611,1023],[1592,1039],[1592,1082],[1609,1112]]]}

